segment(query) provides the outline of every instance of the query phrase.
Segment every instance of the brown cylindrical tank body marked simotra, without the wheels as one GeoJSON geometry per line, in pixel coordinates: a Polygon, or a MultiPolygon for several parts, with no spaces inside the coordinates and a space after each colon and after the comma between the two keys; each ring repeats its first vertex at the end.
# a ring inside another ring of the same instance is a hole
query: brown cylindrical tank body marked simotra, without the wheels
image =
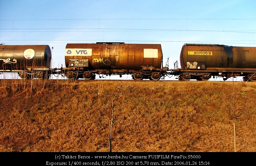
{"type": "Polygon", "coordinates": [[[256,69],[256,47],[185,44],[180,65],[182,69],[256,69]]]}

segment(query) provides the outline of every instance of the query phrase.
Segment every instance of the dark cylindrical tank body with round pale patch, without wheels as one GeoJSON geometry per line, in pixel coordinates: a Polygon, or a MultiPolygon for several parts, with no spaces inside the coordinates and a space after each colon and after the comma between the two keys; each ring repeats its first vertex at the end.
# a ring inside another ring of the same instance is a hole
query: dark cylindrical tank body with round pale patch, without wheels
{"type": "Polygon", "coordinates": [[[1,70],[50,68],[51,60],[48,45],[0,45],[1,70]]]}

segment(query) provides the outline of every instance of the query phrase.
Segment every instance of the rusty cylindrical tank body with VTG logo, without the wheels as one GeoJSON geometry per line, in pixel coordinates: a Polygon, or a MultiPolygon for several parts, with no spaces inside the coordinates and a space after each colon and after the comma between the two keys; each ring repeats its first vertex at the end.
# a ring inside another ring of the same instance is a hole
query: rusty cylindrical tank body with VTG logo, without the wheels
{"type": "Polygon", "coordinates": [[[67,44],[65,63],[66,67],[88,67],[85,69],[161,68],[162,48],[160,44],[67,44]]]}

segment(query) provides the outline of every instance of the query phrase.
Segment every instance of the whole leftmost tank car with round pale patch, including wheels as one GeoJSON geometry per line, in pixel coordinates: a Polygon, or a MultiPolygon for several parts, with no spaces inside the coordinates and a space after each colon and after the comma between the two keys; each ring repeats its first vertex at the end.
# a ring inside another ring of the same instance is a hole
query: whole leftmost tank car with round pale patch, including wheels
{"type": "Polygon", "coordinates": [[[0,71],[20,78],[49,78],[52,54],[48,45],[0,45],[0,71]]]}

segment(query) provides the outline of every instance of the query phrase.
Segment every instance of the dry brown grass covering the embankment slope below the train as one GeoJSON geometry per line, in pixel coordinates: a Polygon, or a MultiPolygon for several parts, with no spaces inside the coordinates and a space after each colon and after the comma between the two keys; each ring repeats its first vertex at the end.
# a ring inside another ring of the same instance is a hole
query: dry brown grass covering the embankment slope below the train
{"type": "Polygon", "coordinates": [[[0,80],[0,151],[256,152],[256,83],[0,80]]]}

